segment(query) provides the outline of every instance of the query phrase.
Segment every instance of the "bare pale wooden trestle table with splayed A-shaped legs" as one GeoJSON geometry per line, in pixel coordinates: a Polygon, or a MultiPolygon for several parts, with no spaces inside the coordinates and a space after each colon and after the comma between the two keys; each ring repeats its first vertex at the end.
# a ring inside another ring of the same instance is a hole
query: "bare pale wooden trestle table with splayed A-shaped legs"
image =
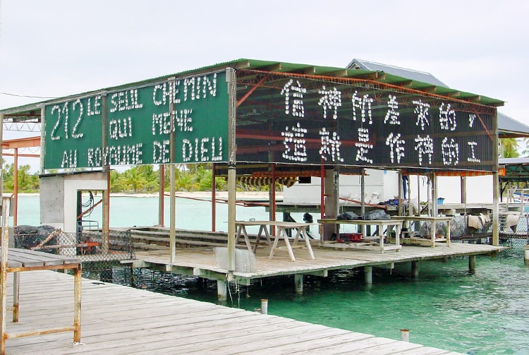
{"type": "Polygon", "coordinates": [[[297,246],[300,236],[303,235],[303,239],[305,240],[305,245],[307,246],[307,249],[309,251],[310,258],[314,259],[314,253],[312,252],[312,247],[310,246],[309,236],[306,231],[306,228],[312,225],[312,223],[280,222],[280,221],[236,221],[235,224],[237,227],[236,243],[241,237],[241,234],[243,234],[244,241],[246,243],[246,246],[248,247],[248,250],[252,251],[253,253],[257,251],[257,246],[259,245],[261,236],[263,233],[265,233],[267,243],[270,246],[270,256],[269,256],[270,259],[274,258],[275,249],[277,248],[277,242],[279,241],[279,239],[283,239],[285,241],[286,248],[288,250],[288,255],[290,255],[290,258],[292,261],[296,261],[292,248],[297,246]],[[250,239],[248,238],[248,231],[246,231],[246,227],[248,226],[260,226],[259,232],[257,233],[257,239],[255,239],[255,246],[253,248],[250,245],[250,239]],[[274,237],[273,243],[270,239],[270,234],[268,231],[269,226],[277,227],[276,236],[274,237]],[[287,229],[298,229],[298,232],[296,233],[296,237],[294,238],[292,245],[288,239],[288,234],[286,232],[287,229]]]}

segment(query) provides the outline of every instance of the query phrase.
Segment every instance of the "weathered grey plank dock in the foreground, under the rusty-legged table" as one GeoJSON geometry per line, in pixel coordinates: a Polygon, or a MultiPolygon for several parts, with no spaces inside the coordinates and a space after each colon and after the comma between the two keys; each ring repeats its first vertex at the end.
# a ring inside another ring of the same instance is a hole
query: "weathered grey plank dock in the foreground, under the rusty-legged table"
{"type": "MultiPolygon", "coordinates": [[[[22,272],[20,320],[8,330],[71,320],[71,283],[22,272]]],[[[81,344],[65,333],[7,339],[7,354],[458,354],[90,279],[82,289],[81,344]]]]}

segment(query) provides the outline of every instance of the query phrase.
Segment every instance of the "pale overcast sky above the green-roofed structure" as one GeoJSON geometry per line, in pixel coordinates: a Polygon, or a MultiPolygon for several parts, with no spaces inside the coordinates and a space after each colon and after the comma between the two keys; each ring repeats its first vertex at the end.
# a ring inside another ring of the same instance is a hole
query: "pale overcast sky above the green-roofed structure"
{"type": "Polygon", "coordinates": [[[0,0],[0,109],[239,58],[365,59],[504,100],[529,125],[528,18],[522,0],[0,0]]]}

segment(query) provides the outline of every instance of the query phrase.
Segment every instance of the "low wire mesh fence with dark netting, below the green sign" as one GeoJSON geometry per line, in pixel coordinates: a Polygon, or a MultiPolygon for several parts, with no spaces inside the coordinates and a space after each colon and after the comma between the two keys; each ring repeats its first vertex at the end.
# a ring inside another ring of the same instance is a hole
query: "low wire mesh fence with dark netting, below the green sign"
{"type": "Polygon", "coordinates": [[[129,230],[66,233],[51,226],[18,226],[13,228],[13,246],[80,258],[83,270],[103,270],[135,258],[129,230]]]}

